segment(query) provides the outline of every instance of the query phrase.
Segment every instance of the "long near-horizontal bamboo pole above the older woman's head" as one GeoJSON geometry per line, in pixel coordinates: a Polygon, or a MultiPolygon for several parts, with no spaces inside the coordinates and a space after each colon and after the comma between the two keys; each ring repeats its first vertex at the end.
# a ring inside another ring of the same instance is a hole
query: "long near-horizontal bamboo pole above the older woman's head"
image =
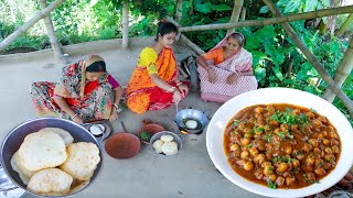
{"type": "Polygon", "coordinates": [[[183,26],[183,28],[180,28],[179,31],[180,32],[190,32],[190,31],[204,31],[204,30],[235,29],[235,28],[242,28],[242,26],[265,26],[265,25],[269,25],[269,24],[277,24],[277,23],[314,19],[314,18],[322,18],[322,16],[344,14],[344,13],[353,13],[353,6],[339,7],[339,8],[333,8],[333,9],[323,9],[323,10],[318,10],[318,11],[312,11],[312,12],[289,14],[289,15],[276,16],[276,18],[264,19],[264,20],[242,21],[242,22],[237,22],[237,23],[183,26]]]}

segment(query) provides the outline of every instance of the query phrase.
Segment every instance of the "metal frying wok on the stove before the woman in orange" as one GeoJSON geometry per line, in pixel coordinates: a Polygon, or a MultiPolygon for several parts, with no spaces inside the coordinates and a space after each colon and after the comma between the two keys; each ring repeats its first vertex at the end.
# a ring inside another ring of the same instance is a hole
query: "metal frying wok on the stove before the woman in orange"
{"type": "Polygon", "coordinates": [[[183,131],[185,131],[186,133],[199,134],[207,127],[210,120],[207,116],[200,110],[183,109],[181,111],[178,111],[174,122],[179,127],[182,133],[183,131]],[[195,130],[188,129],[183,122],[184,119],[195,120],[197,123],[201,124],[201,128],[195,130]]]}

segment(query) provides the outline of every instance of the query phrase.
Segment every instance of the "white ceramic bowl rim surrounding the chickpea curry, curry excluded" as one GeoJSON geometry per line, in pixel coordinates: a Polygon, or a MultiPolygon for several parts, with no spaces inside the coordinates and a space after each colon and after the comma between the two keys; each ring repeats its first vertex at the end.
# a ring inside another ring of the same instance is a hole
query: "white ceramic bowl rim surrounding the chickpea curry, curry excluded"
{"type": "Polygon", "coordinates": [[[350,170],[353,164],[353,129],[346,118],[324,99],[297,89],[264,88],[245,92],[224,103],[213,116],[206,133],[208,155],[216,168],[237,186],[268,197],[306,197],[325,190],[336,184],[350,170]],[[319,184],[300,189],[271,189],[258,185],[237,175],[227,162],[224,148],[224,129],[228,121],[242,109],[254,105],[291,103],[317,110],[327,117],[338,130],[342,143],[342,151],[336,167],[319,184]],[[221,132],[222,131],[222,132],[221,132]]]}

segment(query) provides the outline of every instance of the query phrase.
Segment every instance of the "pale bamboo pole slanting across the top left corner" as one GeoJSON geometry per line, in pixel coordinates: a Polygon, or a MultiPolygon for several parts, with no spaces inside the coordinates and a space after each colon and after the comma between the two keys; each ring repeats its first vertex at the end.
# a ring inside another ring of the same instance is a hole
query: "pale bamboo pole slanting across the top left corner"
{"type": "Polygon", "coordinates": [[[50,6],[47,6],[44,10],[41,10],[36,12],[36,14],[30,19],[28,22],[25,22],[22,26],[20,26],[17,31],[14,31],[11,35],[9,35],[7,38],[4,38],[0,43],[0,51],[3,51],[7,46],[9,46],[15,38],[21,36],[25,31],[28,31],[30,28],[32,28],[36,22],[39,22],[41,19],[45,18],[53,11],[55,8],[61,6],[65,0],[55,0],[50,6]]]}

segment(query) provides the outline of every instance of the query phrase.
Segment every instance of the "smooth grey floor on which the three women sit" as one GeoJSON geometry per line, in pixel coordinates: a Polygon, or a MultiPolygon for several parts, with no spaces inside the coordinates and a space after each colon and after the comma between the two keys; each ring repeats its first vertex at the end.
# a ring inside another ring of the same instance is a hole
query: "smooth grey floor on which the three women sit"
{"type": "MultiPolygon", "coordinates": [[[[150,42],[151,38],[136,42],[128,51],[120,50],[118,44],[115,47],[105,47],[104,44],[98,43],[97,47],[90,47],[93,48],[90,51],[86,51],[85,44],[76,45],[78,48],[82,47],[82,51],[68,53],[69,61],[78,59],[84,53],[99,54],[105,58],[108,72],[121,85],[126,85],[140,51],[150,42]]],[[[181,48],[184,52],[191,51],[181,48]]],[[[178,54],[176,57],[179,57],[178,54]]],[[[50,51],[0,56],[1,140],[12,128],[35,117],[29,92],[30,85],[40,80],[56,81],[60,67],[50,51]]],[[[200,100],[199,92],[191,92],[179,105],[179,109],[192,107],[202,111],[208,110],[213,114],[220,106],[204,102],[200,100]]],[[[142,127],[141,121],[149,118],[167,130],[179,133],[172,122],[175,111],[175,107],[171,107],[138,116],[124,109],[119,120],[111,123],[113,131],[114,133],[122,131],[120,121],[124,121],[129,132],[137,133],[142,127]]],[[[142,145],[140,153],[129,160],[111,158],[105,151],[103,155],[104,167],[98,179],[74,197],[260,197],[237,187],[215,169],[206,151],[205,132],[201,135],[184,135],[183,148],[174,156],[157,155],[147,145],[142,145]]],[[[24,194],[23,197],[34,196],[24,194]]]]}

